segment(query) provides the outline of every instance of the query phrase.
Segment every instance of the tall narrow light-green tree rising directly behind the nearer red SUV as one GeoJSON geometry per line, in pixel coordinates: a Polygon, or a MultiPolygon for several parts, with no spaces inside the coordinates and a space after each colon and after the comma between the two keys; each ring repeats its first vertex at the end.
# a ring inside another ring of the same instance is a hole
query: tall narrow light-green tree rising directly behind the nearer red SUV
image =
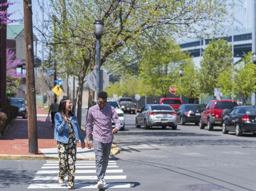
{"type": "Polygon", "coordinates": [[[213,95],[218,77],[233,63],[231,44],[223,39],[212,39],[203,52],[198,81],[202,93],[213,95]]]}

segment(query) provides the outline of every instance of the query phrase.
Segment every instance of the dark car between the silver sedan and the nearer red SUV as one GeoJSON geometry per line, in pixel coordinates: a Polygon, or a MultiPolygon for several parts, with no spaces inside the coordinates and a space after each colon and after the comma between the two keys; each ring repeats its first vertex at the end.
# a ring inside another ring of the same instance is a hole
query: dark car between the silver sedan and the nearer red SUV
{"type": "Polygon", "coordinates": [[[185,125],[185,123],[195,123],[195,125],[198,125],[203,109],[203,106],[200,104],[183,104],[178,108],[177,122],[180,122],[180,125],[185,125]]]}

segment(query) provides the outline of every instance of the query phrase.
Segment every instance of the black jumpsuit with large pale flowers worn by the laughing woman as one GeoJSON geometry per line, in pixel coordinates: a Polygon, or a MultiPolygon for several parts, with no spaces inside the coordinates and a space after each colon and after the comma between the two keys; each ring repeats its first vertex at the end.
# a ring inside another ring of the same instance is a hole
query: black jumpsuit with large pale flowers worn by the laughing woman
{"type": "Polygon", "coordinates": [[[76,135],[71,125],[69,123],[69,142],[62,143],[58,141],[58,153],[59,153],[59,179],[64,180],[66,175],[68,175],[68,185],[71,189],[74,189],[74,179],[76,171],[76,153],[77,153],[77,141],[76,135]]]}

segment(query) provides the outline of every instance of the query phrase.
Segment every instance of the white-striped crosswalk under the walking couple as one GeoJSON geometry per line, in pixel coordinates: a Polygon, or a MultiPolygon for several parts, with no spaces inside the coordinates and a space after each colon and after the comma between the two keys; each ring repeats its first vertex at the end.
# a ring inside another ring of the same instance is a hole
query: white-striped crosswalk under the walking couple
{"type": "MultiPolygon", "coordinates": [[[[64,184],[58,183],[59,161],[46,161],[42,166],[42,170],[36,172],[33,182],[28,186],[28,189],[67,189],[67,177],[64,184]],[[57,170],[54,170],[56,168],[57,170]]],[[[109,161],[106,169],[106,188],[130,188],[131,183],[125,182],[126,175],[119,175],[123,173],[123,169],[119,168],[116,161],[109,161]],[[121,180],[122,182],[120,182],[121,180]],[[119,181],[119,182],[116,182],[119,181]],[[116,183],[115,183],[116,182],[116,183]]],[[[77,161],[76,175],[75,175],[75,189],[79,188],[95,188],[97,189],[97,176],[95,169],[95,161],[77,161]],[[91,168],[91,169],[88,169],[91,168]],[[79,170],[77,170],[79,169],[79,170]]]]}

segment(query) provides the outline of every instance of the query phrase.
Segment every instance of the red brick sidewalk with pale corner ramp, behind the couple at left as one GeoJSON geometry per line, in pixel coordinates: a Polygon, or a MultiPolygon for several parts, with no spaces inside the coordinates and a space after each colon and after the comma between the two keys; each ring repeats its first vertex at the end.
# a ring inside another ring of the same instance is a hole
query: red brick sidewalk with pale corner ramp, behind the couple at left
{"type": "MultiPolygon", "coordinates": [[[[14,124],[0,140],[0,159],[55,159],[58,158],[57,141],[54,137],[52,122],[45,122],[48,113],[43,108],[37,108],[37,138],[38,154],[28,153],[28,130],[27,119],[17,118],[14,124]],[[41,115],[46,115],[41,117],[41,115]]],[[[84,131],[82,131],[84,133],[84,131]]],[[[112,145],[111,155],[119,152],[119,149],[112,145]],[[118,151],[117,151],[118,150],[118,151]]],[[[81,149],[81,143],[77,145],[77,158],[95,158],[94,149],[81,149]]]]}

